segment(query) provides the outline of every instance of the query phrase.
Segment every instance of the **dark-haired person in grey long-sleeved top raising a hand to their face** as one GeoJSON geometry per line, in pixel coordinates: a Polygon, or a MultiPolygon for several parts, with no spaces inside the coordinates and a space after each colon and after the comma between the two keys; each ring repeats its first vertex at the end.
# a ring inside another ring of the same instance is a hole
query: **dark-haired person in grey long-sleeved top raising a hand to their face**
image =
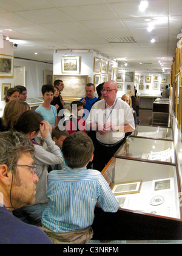
{"type": "Polygon", "coordinates": [[[61,165],[62,155],[58,146],[52,140],[49,133],[49,123],[44,121],[39,113],[27,111],[22,113],[14,126],[18,132],[24,133],[35,148],[33,160],[36,165],[36,175],[39,182],[36,184],[36,201],[33,205],[27,205],[15,210],[14,215],[22,221],[35,226],[41,226],[42,213],[49,203],[45,195],[47,191],[47,176],[49,165],[61,165]],[[33,139],[41,133],[42,140],[47,144],[47,150],[33,139]]]}

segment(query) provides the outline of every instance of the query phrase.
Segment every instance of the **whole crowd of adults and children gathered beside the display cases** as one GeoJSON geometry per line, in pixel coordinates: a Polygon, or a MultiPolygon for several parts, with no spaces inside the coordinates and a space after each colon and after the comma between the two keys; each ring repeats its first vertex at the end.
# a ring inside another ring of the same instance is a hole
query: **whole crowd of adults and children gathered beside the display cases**
{"type": "Polygon", "coordinates": [[[0,119],[0,243],[87,243],[96,204],[118,211],[101,171],[135,130],[137,109],[130,94],[117,97],[111,80],[96,89],[87,84],[86,97],[73,101],[65,118],[59,115],[67,108],[63,89],[61,80],[43,85],[44,102],[35,111],[25,87],[7,92],[0,119]]]}

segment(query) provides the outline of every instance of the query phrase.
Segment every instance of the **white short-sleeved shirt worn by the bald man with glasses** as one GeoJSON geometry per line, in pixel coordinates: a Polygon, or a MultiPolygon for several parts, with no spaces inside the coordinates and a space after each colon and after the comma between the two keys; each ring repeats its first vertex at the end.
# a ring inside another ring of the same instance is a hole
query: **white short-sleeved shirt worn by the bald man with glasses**
{"type": "MultiPolygon", "coordinates": [[[[115,102],[111,107],[107,105],[104,99],[96,102],[87,118],[88,127],[90,123],[103,126],[107,122],[112,122],[116,126],[129,124],[130,127],[135,129],[135,121],[130,106],[118,98],[115,99],[115,102]]],[[[119,132],[109,130],[105,135],[100,135],[99,132],[96,131],[97,140],[103,144],[115,144],[118,141],[121,141],[124,138],[124,135],[124,131],[121,130],[119,132]]]]}

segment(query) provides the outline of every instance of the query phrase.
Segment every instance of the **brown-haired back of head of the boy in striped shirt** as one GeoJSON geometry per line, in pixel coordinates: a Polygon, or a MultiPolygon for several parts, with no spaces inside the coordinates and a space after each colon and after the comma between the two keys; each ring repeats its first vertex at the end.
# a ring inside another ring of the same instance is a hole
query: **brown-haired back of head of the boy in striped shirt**
{"type": "Polygon", "coordinates": [[[72,169],[87,166],[93,156],[93,151],[93,142],[84,132],[72,133],[62,145],[66,165],[72,169]]]}

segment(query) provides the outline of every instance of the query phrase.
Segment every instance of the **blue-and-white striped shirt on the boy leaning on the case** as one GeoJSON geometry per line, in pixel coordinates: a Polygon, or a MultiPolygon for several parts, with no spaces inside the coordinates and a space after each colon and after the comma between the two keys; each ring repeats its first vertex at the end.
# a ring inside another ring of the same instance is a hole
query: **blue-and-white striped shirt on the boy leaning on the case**
{"type": "Polygon", "coordinates": [[[52,171],[48,178],[49,206],[42,224],[53,232],[86,229],[93,224],[95,205],[117,212],[119,202],[99,171],[87,168],[52,171]]]}

